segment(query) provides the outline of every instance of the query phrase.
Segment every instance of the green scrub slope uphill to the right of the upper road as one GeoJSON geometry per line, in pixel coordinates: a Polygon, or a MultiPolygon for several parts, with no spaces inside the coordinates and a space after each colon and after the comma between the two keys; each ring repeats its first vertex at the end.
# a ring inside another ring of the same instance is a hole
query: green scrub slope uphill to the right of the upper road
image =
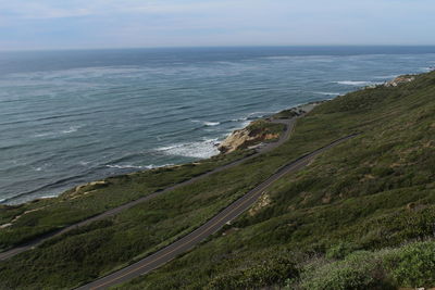
{"type": "Polygon", "coordinates": [[[363,134],[277,181],[253,215],[120,289],[435,286],[435,73],[325,103],[295,139],[310,141],[310,128],[363,134]]]}

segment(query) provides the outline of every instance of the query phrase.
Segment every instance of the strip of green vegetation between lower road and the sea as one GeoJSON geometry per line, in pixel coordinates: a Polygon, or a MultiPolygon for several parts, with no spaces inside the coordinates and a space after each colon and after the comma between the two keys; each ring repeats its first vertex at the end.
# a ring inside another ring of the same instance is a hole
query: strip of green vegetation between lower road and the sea
{"type": "Polygon", "coordinates": [[[0,230],[0,250],[78,223],[251,153],[234,152],[199,163],[109,177],[103,182],[67,190],[55,199],[36,200],[15,206],[2,205],[0,225],[12,223],[12,226],[0,230]]]}

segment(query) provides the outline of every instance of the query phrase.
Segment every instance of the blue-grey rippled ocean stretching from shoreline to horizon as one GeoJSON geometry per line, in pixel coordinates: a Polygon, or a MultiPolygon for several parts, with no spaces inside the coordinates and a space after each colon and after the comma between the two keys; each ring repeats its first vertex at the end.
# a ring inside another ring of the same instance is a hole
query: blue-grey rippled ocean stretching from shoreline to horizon
{"type": "Polygon", "coordinates": [[[0,202],[207,159],[252,119],[434,66],[434,47],[0,52],[0,202]]]}

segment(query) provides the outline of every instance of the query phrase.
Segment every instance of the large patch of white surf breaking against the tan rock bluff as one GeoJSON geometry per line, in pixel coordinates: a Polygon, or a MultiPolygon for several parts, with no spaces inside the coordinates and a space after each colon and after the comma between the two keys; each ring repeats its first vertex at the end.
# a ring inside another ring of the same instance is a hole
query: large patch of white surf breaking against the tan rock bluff
{"type": "Polygon", "coordinates": [[[206,139],[203,141],[177,143],[167,147],[160,147],[157,149],[157,151],[162,152],[163,154],[166,155],[208,159],[219,154],[216,144],[217,144],[217,138],[214,138],[214,139],[206,139]]]}

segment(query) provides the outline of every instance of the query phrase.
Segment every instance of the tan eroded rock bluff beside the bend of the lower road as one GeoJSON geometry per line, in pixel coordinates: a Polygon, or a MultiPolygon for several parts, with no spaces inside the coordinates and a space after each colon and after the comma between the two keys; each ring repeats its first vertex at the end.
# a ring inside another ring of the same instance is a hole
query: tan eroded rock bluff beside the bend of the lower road
{"type": "Polygon", "coordinates": [[[252,122],[251,125],[244,129],[233,131],[217,147],[219,151],[221,151],[221,153],[231,153],[237,149],[246,149],[260,142],[273,140],[279,137],[278,134],[271,134],[266,129],[252,129],[252,125],[254,125],[256,122],[252,122]]]}

